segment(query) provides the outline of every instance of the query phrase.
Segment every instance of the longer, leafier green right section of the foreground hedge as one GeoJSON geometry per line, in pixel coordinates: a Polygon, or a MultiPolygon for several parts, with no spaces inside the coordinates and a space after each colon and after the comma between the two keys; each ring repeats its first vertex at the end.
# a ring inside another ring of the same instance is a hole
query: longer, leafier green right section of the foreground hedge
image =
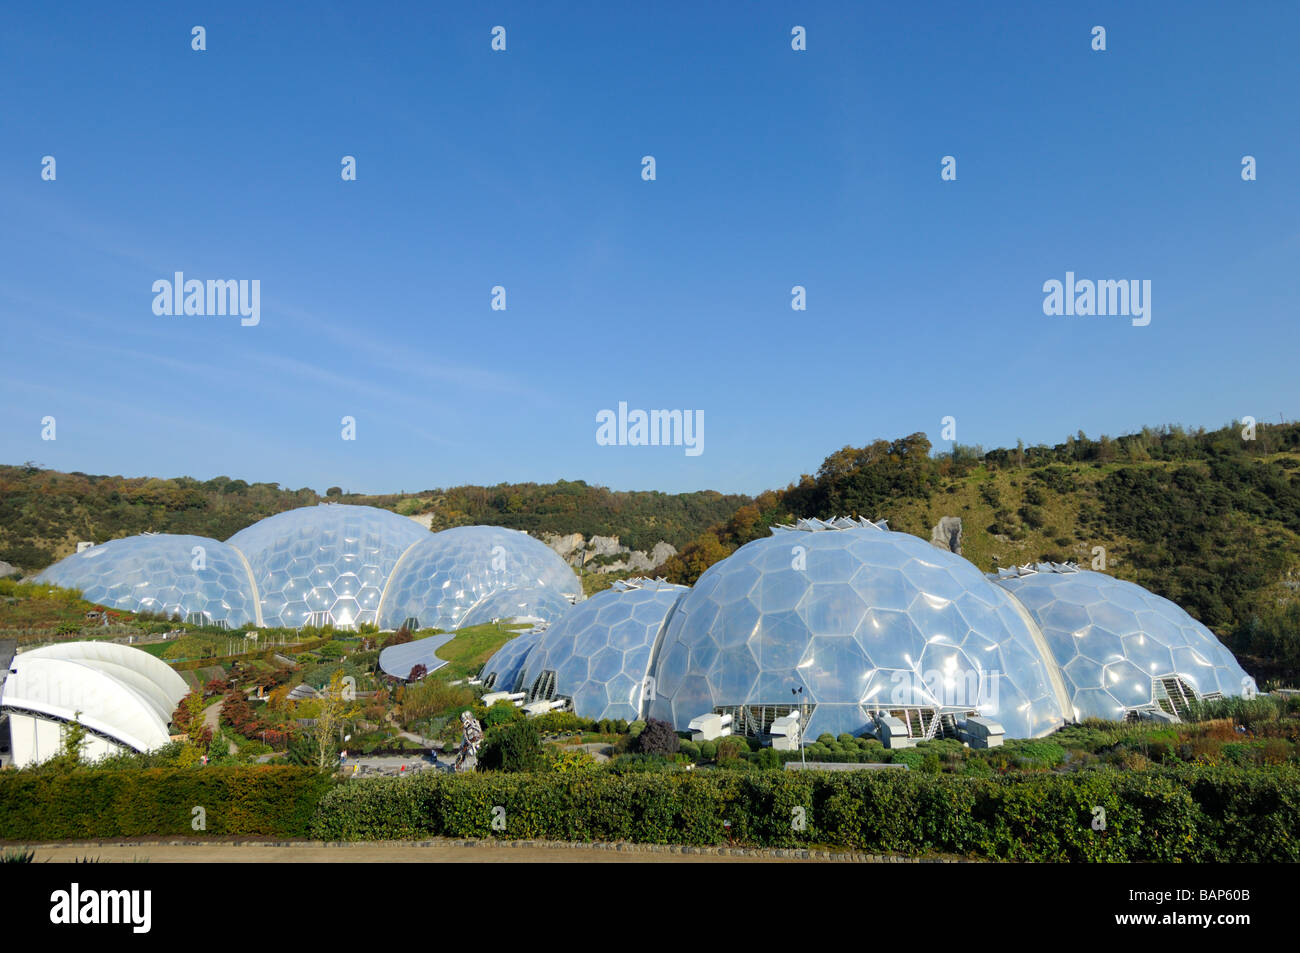
{"type": "Polygon", "coordinates": [[[1300,861],[1300,771],[432,775],[330,790],[322,840],[504,837],[952,853],[1015,861],[1300,861]],[[506,828],[491,827],[504,809],[506,828]],[[1106,829],[1092,828],[1093,807],[1106,829]],[[803,807],[807,829],[793,829],[803,807]]]}

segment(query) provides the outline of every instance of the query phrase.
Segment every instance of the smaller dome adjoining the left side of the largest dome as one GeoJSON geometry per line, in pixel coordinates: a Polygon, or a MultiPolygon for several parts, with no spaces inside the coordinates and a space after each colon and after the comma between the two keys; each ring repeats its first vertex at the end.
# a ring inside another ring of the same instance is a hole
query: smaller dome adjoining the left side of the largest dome
{"type": "Polygon", "coordinates": [[[547,697],[571,698],[584,718],[641,718],[655,644],[685,592],[663,580],[615,582],[542,633],[521,684],[525,690],[545,684],[547,697]],[[555,673],[554,681],[542,679],[546,672],[555,673]]]}

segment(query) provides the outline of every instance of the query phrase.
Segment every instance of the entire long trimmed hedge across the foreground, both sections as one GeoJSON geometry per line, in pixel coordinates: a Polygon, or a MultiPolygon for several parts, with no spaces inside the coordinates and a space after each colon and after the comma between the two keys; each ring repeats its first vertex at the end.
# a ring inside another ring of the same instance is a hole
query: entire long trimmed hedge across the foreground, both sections
{"type": "Polygon", "coordinates": [[[1300,768],[993,777],[904,771],[419,774],[342,784],[299,767],[14,771],[0,837],[430,836],[829,846],[1015,861],[1300,861],[1300,768]],[[195,806],[207,831],[191,828],[195,806]],[[504,829],[493,829],[493,809],[504,829]],[[1092,828],[1093,807],[1106,813],[1092,828]],[[803,809],[807,829],[792,824],[803,809]],[[731,822],[729,832],[723,827],[731,822]]]}

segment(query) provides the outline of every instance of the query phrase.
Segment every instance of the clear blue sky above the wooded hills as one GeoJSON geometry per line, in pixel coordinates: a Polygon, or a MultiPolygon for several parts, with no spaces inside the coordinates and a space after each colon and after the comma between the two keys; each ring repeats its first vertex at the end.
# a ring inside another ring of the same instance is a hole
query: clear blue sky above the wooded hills
{"type": "Polygon", "coordinates": [[[985,447],[1290,420],[1297,34],[1292,3],[23,5],[0,460],[754,493],[948,415],[985,447]],[[156,316],[177,270],[259,280],[260,324],[156,316]],[[1150,325],[1045,316],[1067,270],[1149,280],[1150,325]],[[598,446],[620,400],[703,411],[705,451],[598,446]]]}

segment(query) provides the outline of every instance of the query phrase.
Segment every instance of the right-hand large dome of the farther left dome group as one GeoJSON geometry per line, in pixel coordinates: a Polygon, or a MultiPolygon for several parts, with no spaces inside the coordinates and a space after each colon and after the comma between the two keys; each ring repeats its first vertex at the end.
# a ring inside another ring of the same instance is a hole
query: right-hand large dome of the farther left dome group
{"type": "Polygon", "coordinates": [[[455,629],[474,606],[502,589],[546,589],[581,599],[582,585],[546,543],[502,527],[455,527],[426,536],[396,567],[381,624],[415,618],[455,629]]]}

